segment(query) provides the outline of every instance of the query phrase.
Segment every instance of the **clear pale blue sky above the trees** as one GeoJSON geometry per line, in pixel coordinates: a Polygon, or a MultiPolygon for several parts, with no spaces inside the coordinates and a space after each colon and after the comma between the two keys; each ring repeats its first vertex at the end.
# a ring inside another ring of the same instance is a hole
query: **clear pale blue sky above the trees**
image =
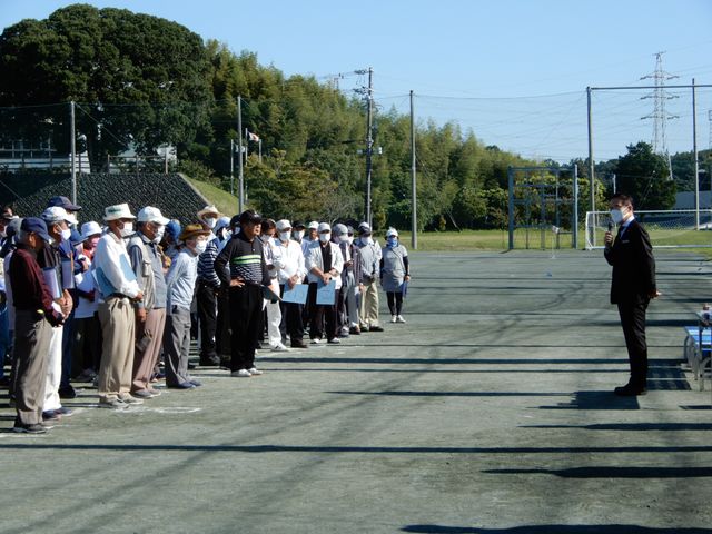
{"type": "MultiPolygon", "coordinates": [[[[43,19],[71,1],[0,0],[0,27],[43,19]]],[[[204,39],[249,50],[287,76],[338,79],[353,93],[374,69],[378,110],[452,120],[485,145],[567,162],[587,156],[586,87],[712,85],[711,0],[87,1],[175,20],[204,39]],[[339,76],[340,75],[340,76],[339,76]]],[[[594,159],[653,140],[652,90],[592,92],[594,159]]],[[[669,89],[666,148],[693,145],[692,90],[669,89]]],[[[712,145],[712,88],[696,90],[698,147],[712,145]]],[[[659,126],[663,126],[659,122],[659,126]]],[[[659,139],[662,140],[662,131],[659,139]]]]}

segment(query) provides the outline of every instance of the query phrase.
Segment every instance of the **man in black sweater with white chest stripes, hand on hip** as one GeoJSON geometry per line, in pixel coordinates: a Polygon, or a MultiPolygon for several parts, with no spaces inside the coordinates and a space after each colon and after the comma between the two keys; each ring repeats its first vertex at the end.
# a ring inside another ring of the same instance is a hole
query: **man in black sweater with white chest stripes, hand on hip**
{"type": "Polygon", "coordinates": [[[269,286],[269,270],[258,239],[263,218],[253,210],[239,216],[240,231],[215,259],[215,271],[230,291],[231,375],[261,375],[255,367],[255,348],[263,313],[263,287],[269,286]],[[229,273],[227,268],[229,267],[229,273]]]}

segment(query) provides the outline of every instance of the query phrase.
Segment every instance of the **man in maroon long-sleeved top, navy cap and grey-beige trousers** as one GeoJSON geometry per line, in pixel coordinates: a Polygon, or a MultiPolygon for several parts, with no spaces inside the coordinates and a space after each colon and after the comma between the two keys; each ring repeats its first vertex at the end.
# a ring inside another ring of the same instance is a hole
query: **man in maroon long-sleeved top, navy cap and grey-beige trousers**
{"type": "Polygon", "coordinates": [[[47,387],[47,353],[52,327],[61,325],[69,313],[67,306],[57,309],[53,296],[44,281],[37,256],[49,246],[50,236],[42,219],[22,220],[19,244],[13,253],[9,278],[14,290],[16,363],[14,397],[17,417],[14,432],[42,434],[43,402],[47,387]]]}

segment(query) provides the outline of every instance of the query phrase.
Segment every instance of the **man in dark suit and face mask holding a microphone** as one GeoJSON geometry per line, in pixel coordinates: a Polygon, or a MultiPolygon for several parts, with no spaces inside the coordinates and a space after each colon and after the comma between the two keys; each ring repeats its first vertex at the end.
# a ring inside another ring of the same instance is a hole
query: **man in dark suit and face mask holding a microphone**
{"type": "Polygon", "coordinates": [[[645,310],[651,298],[660,296],[655,286],[655,258],[647,231],[633,215],[633,200],[627,195],[611,199],[611,218],[619,226],[615,237],[605,233],[605,259],[613,266],[611,304],[616,304],[625,336],[631,378],[616,387],[621,396],[645,395],[647,388],[647,345],[645,310]]]}

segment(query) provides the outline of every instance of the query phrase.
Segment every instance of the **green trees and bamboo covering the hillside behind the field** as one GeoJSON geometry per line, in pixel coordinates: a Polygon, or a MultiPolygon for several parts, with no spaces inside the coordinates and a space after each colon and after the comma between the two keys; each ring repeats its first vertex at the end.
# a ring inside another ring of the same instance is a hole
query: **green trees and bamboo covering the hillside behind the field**
{"type": "MultiPolygon", "coordinates": [[[[363,217],[362,99],[314,77],[286,77],[261,66],[254,52],[234,53],[176,22],[122,9],[73,4],[44,20],[22,20],[0,36],[0,144],[51,142],[66,154],[69,117],[66,103],[57,102],[76,101],[80,148],[97,169],[128,148],[149,155],[171,145],[178,170],[229,190],[238,96],[243,127],[259,136],[263,149],[259,158],[249,145],[250,206],[300,219],[363,217]]],[[[408,227],[409,117],[378,111],[374,136],[383,147],[373,158],[374,224],[408,227]]],[[[416,152],[421,229],[504,228],[508,167],[558,167],[487,145],[455,122],[418,123],[416,152]]],[[[686,176],[689,158],[673,158],[673,171],[675,162],[686,176]]],[[[587,207],[587,162],[571,164],[578,164],[580,202],[587,207]]],[[[632,144],[622,158],[597,164],[600,207],[605,177],[615,170],[619,189],[640,196],[643,208],[669,208],[675,188],[685,187],[684,180],[668,179],[668,160],[650,145],[632,144]]]]}

